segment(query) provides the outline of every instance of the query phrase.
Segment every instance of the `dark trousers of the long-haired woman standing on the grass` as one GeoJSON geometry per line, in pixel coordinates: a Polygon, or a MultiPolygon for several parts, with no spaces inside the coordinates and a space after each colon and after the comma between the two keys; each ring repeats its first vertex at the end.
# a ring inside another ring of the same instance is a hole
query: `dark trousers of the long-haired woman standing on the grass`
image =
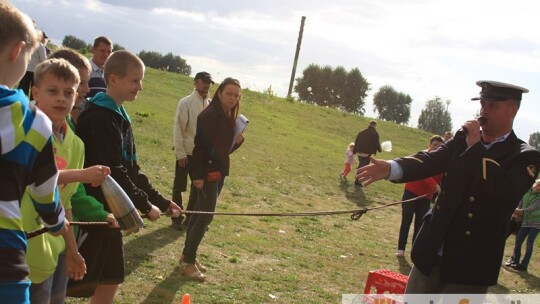
{"type": "MultiPolygon", "coordinates": [[[[195,211],[216,211],[217,198],[223,188],[225,177],[223,176],[219,182],[204,182],[202,190],[199,191],[197,203],[195,204],[195,211]]],[[[184,243],[184,262],[194,264],[197,258],[197,250],[202,242],[206,228],[212,220],[213,215],[205,214],[193,214],[189,220],[188,228],[186,232],[186,241],[184,243]]]]}

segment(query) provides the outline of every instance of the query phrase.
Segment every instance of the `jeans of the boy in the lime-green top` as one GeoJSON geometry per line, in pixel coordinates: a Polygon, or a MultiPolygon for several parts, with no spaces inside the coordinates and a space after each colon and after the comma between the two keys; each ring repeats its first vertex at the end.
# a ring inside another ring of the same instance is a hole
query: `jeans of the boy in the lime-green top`
{"type": "Polygon", "coordinates": [[[66,298],[68,277],[64,254],[58,256],[58,264],[54,273],[45,281],[30,286],[30,302],[32,304],[63,304],[66,298]]]}

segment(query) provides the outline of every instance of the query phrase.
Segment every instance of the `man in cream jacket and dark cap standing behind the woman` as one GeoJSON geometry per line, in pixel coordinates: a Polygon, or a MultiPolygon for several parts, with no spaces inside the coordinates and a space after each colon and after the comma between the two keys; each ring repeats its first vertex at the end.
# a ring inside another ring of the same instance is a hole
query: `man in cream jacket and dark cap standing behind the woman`
{"type": "MultiPolygon", "coordinates": [[[[182,209],[184,209],[182,192],[185,192],[187,189],[188,173],[191,177],[191,167],[189,164],[193,154],[193,147],[195,146],[194,139],[197,131],[197,116],[208,106],[210,102],[208,92],[210,86],[213,84],[212,75],[208,72],[197,73],[195,75],[195,89],[193,89],[191,95],[180,99],[176,107],[173,126],[173,148],[176,162],[172,200],[182,209]]],[[[186,210],[193,210],[196,202],[197,191],[194,189],[193,183],[191,183],[186,210]]],[[[183,217],[178,217],[171,218],[171,221],[171,226],[174,229],[184,230],[187,227],[189,215],[186,215],[185,220],[183,217]]]]}

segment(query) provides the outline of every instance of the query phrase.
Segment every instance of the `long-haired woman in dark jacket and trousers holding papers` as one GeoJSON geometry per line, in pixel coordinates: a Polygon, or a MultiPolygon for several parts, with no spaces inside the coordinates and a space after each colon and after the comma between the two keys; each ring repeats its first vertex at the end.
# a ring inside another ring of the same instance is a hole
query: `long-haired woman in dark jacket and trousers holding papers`
{"type": "MultiPolygon", "coordinates": [[[[216,210],[216,202],[229,175],[229,154],[244,141],[235,137],[235,125],[240,111],[240,82],[225,78],[212,101],[197,118],[197,133],[193,149],[193,184],[199,191],[195,211],[216,210]]],[[[194,214],[189,220],[186,241],[180,258],[180,272],[194,280],[204,281],[206,268],[196,259],[212,215],[194,214]]]]}

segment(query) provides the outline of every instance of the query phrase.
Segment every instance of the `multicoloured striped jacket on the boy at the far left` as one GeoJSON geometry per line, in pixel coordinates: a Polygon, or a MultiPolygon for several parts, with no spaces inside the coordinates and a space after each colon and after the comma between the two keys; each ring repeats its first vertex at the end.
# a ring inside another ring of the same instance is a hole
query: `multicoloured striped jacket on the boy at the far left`
{"type": "Polygon", "coordinates": [[[25,189],[45,227],[58,231],[64,224],[51,135],[51,121],[22,91],[0,86],[0,281],[28,276],[20,212],[25,189]]]}

